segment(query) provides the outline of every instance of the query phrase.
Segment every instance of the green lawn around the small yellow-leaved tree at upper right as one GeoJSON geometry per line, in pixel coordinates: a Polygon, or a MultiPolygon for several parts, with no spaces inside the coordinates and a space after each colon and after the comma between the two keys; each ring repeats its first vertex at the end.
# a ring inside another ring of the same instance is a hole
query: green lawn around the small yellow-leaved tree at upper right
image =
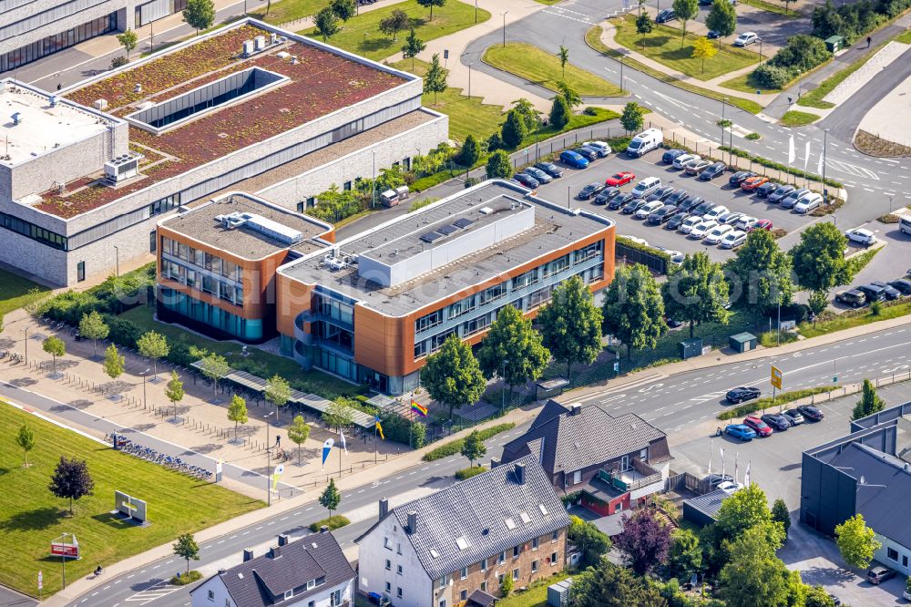
{"type": "Polygon", "coordinates": [[[611,23],[617,27],[615,40],[619,44],[699,80],[711,80],[759,62],[759,55],[752,50],[722,45],[715,57],[705,60],[702,71],[702,60],[692,57],[692,44],[699,36],[687,34],[681,46],[681,31],[673,27],[656,25],[650,34],[642,36],[636,31],[634,15],[612,19],[611,23]]]}

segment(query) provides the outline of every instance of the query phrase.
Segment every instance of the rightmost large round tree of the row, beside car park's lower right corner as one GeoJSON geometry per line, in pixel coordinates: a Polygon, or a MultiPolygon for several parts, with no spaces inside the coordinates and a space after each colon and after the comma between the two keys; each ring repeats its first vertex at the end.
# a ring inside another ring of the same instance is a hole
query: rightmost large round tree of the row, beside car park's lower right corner
{"type": "Polygon", "coordinates": [[[834,223],[816,223],[801,232],[791,249],[797,283],[808,291],[828,291],[851,282],[850,264],[844,259],[847,239],[834,223]]]}

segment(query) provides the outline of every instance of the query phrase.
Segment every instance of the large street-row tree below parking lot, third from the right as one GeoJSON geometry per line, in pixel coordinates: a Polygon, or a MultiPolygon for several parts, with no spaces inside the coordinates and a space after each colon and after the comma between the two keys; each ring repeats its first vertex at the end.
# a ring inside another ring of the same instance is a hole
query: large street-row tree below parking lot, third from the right
{"type": "Polygon", "coordinates": [[[724,280],[722,266],[711,262],[708,253],[696,252],[683,258],[683,263],[670,271],[668,280],[661,285],[664,310],[673,319],[690,323],[727,324],[730,313],[728,283],[724,280]]]}

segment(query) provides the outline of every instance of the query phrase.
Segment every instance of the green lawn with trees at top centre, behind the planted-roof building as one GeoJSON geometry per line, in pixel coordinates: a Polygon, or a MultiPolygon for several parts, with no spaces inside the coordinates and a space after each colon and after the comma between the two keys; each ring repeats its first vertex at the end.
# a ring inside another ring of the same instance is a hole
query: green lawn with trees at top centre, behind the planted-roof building
{"type": "MultiPolygon", "coordinates": [[[[407,32],[399,32],[398,38],[393,40],[392,36],[386,36],[380,32],[380,21],[391,15],[394,10],[403,10],[411,17],[415,34],[425,42],[455,34],[476,23],[475,7],[458,0],[451,0],[443,6],[436,6],[433,20],[430,19],[430,11],[425,7],[418,5],[415,0],[405,0],[405,2],[384,6],[375,11],[355,16],[348,23],[343,24],[342,31],[329,38],[327,42],[371,59],[390,57],[402,50],[404,37],[407,36],[407,32]]],[[[480,8],[477,9],[477,23],[483,23],[489,18],[490,13],[480,8]]],[[[314,29],[308,29],[302,34],[322,40],[322,36],[316,34],[314,29]]]]}

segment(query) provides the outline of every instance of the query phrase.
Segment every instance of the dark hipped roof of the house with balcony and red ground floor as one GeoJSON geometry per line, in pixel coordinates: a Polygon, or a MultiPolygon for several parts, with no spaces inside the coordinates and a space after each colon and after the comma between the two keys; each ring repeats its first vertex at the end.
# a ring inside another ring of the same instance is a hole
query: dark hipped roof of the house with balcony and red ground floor
{"type": "Polygon", "coordinates": [[[611,417],[589,405],[572,415],[567,407],[548,401],[525,435],[504,446],[503,460],[530,452],[540,455],[549,474],[572,472],[646,448],[665,436],[633,413],[611,417]]]}

